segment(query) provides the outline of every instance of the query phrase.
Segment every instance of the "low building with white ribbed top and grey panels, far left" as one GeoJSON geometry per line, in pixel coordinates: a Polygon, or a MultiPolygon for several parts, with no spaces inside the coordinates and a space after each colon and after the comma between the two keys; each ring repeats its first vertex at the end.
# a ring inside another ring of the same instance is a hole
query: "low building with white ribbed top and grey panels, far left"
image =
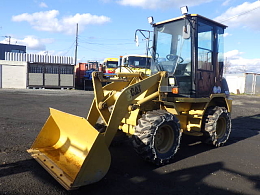
{"type": "Polygon", "coordinates": [[[72,57],[6,52],[0,88],[75,88],[72,57]]]}

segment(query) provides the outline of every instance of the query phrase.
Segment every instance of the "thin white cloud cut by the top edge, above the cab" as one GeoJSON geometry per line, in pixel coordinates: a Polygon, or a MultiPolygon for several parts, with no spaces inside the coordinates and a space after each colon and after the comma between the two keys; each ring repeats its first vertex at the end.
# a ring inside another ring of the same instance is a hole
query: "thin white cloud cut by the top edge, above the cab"
{"type": "Polygon", "coordinates": [[[144,9],[167,9],[180,6],[195,6],[212,0],[118,0],[117,3],[124,6],[142,7],[144,9]]]}

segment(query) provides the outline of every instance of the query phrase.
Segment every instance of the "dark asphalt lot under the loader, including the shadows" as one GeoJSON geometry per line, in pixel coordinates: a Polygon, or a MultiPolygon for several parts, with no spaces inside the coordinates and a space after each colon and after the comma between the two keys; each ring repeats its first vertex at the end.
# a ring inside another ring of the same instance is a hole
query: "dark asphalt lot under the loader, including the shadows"
{"type": "Polygon", "coordinates": [[[260,96],[232,96],[232,133],[212,148],[184,136],[175,161],[155,167],[129,141],[111,146],[98,183],[67,192],[26,152],[49,107],[86,116],[90,91],[0,89],[0,194],[260,194],[260,96]]]}

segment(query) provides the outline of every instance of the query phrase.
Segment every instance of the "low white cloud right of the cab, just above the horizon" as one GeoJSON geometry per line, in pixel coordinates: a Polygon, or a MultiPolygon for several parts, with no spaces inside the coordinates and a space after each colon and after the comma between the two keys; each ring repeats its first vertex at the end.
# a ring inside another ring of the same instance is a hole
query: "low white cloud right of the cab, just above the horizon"
{"type": "Polygon", "coordinates": [[[246,59],[243,58],[242,55],[243,52],[238,50],[232,50],[225,53],[225,65],[228,66],[227,73],[260,73],[260,58],[246,59]]]}

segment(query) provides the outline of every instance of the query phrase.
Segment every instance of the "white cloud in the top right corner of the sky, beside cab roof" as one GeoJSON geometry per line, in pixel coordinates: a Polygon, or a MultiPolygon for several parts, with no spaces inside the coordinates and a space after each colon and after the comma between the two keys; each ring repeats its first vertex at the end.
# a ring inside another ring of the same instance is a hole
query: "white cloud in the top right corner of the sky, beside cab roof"
{"type": "Polygon", "coordinates": [[[249,27],[260,30],[260,1],[253,3],[244,2],[236,7],[230,7],[225,13],[214,20],[231,27],[249,27]]]}

